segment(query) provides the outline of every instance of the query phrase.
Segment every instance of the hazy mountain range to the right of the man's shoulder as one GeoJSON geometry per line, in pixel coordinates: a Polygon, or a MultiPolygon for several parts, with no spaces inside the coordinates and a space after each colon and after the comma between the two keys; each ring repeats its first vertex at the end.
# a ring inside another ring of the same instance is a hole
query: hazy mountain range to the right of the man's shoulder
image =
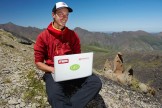
{"type": "Polygon", "coordinates": [[[153,51],[162,49],[162,37],[145,31],[123,31],[106,34],[90,32],[79,27],[75,28],[81,42],[121,51],[153,51]]]}

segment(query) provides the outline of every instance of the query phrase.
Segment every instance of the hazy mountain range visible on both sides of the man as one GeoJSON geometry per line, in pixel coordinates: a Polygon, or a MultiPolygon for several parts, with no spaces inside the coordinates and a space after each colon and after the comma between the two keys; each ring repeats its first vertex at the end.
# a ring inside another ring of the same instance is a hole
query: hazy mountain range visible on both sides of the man
{"type": "MultiPolygon", "coordinates": [[[[43,30],[35,27],[22,27],[11,22],[0,24],[0,28],[9,31],[14,36],[21,37],[23,41],[35,40],[37,35],[43,30]]],[[[151,34],[139,30],[108,34],[90,32],[79,27],[76,27],[74,31],[80,37],[83,46],[96,46],[126,52],[162,50],[162,33],[151,34]]]]}

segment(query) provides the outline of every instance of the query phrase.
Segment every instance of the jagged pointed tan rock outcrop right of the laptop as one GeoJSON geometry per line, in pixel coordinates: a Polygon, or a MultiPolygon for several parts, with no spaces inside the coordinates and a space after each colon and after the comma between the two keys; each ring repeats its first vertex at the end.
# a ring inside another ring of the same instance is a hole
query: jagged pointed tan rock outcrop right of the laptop
{"type": "Polygon", "coordinates": [[[119,82],[124,85],[131,85],[133,69],[131,68],[131,66],[126,69],[124,68],[121,52],[118,52],[118,54],[115,56],[113,66],[111,65],[111,63],[111,61],[106,60],[103,69],[104,74],[113,81],[119,82]]]}

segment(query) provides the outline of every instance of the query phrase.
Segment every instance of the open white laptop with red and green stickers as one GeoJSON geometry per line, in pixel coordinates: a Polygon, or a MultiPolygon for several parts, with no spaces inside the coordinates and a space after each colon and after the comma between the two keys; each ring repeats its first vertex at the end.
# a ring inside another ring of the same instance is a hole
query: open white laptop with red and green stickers
{"type": "Polygon", "coordinates": [[[54,57],[52,77],[55,82],[83,78],[92,75],[93,52],[54,57]]]}

